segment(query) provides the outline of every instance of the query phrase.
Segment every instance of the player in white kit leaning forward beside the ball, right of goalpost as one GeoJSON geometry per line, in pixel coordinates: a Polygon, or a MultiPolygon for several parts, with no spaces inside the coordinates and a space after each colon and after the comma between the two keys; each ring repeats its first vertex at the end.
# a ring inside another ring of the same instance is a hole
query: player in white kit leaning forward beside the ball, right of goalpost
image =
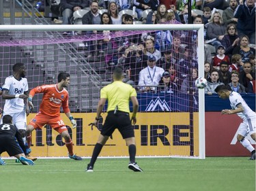
{"type": "Polygon", "coordinates": [[[237,114],[242,118],[243,122],[238,127],[237,139],[240,143],[251,152],[250,160],[255,160],[255,148],[251,145],[248,139],[245,139],[246,135],[250,135],[255,141],[256,137],[256,114],[248,107],[247,103],[242,99],[238,92],[231,91],[229,86],[220,85],[217,86],[215,92],[218,93],[221,99],[228,99],[232,109],[223,109],[221,114],[237,114]]]}

